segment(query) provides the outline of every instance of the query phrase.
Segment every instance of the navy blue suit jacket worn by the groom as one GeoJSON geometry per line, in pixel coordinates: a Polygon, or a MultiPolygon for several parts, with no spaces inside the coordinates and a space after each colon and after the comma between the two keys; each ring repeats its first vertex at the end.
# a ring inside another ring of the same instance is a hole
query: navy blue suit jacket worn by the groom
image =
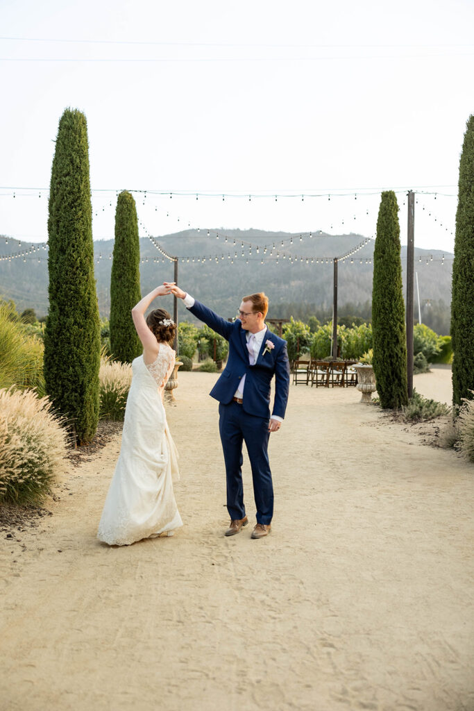
{"type": "Polygon", "coordinates": [[[275,398],[272,415],[284,417],[286,402],[290,384],[290,366],[288,353],[286,352],[286,341],[279,336],[275,336],[269,329],[266,329],[262,348],[254,365],[249,363],[249,351],[247,350],[247,331],[242,328],[242,324],[237,319],[234,323],[217,316],[214,311],[207,306],[195,301],[189,311],[198,317],[200,321],[208,324],[213,331],[229,341],[229,356],[227,365],[217,383],[210,391],[210,395],[216,400],[228,405],[234,397],[239,380],[245,375],[244,397],[242,407],[249,415],[257,417],[270,417],[270,383],[275,376],[275,398]],[[274,344],[273,350],[266,350],[266,341],[274,344]]]}

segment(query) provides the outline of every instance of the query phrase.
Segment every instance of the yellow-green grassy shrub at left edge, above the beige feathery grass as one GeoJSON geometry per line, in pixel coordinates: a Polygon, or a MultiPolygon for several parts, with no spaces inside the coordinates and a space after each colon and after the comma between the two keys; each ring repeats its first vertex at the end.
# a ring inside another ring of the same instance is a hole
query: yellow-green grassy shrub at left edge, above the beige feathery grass
{"type": "Polygon", "coordinates": [[[43,397],[43,343],[28,336],[28,328],[11,319],[8,304],[0,304],[0,387],[31,388],[43,397]]]}

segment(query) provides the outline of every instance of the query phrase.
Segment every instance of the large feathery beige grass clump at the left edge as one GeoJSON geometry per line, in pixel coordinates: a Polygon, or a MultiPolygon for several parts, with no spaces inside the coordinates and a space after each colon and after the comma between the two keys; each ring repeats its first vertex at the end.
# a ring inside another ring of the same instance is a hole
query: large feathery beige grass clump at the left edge
{"type": "Polygon", "coordinates": [[[68,434],[47,397],[0,390],[0,503],[38,503],[66,470],[68,434]]]}

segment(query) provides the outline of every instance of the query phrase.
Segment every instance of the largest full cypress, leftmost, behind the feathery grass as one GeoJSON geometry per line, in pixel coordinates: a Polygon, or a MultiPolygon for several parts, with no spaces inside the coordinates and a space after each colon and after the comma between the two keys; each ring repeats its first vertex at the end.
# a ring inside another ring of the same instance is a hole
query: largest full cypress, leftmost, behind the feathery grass
{"type": "Polygon", "coordinates": [[[59,122],[51,171],[46,392],[77,444],[99,421],[100,323],[94,279],[87,123],[77,109],[59,122]]]}

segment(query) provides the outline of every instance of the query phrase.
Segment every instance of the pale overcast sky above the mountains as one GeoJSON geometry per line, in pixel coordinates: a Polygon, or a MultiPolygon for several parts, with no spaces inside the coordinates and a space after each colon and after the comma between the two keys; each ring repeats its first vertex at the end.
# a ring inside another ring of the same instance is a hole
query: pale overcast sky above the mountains
{"type": "Polygon", "coordinates": [[[473,0],[0,0],[0,234],[47,238],[40,189],[77,107],[95,240],[122,189],[147,191],[141,235],[367,236],[394,189],[406,242],[412,188],[416,245],[452,251],[473,27],[473,0]]]}

